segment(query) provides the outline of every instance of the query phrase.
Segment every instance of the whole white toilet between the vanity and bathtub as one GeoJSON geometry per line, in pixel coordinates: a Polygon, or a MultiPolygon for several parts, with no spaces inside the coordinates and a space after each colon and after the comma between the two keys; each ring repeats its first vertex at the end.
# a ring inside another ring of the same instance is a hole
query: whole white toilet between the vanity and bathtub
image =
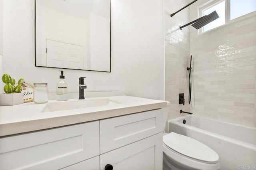
{"type": "MultiPolygon", "coordinates": [[[[164,110],[164,127],[169,108],[164,110]],[[166,113],[167,112],[167,113],[166,113]]],[[[163,136],[163,170],[218,170],[218,154],[205,144],[171,132],[163,136]]]]}

